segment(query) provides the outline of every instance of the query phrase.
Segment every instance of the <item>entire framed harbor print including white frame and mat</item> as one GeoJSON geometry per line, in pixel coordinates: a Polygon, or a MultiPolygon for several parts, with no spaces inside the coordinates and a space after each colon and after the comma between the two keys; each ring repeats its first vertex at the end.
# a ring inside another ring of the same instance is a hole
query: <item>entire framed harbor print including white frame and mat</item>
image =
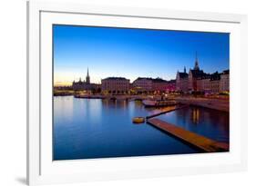
{"type": "Polygon", "coordinates": [[[28,2],[27,19],[28,184],[246,169],[246,15],[28,2]]]}

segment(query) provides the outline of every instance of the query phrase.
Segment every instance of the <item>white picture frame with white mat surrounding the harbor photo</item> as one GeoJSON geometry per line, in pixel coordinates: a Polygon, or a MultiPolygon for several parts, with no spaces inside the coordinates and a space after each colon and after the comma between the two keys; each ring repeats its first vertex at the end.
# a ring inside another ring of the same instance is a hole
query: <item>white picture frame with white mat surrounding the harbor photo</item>
{"type": "Polygon", "coordinates": [[[162,177],[247,169],[247,16],[27,3],[27,183],[162,177]],[[148,20],[148,21],[145,21],[148,20]],[[83,24],[230,33],[230,152],[52,161],[51,25],[83,24]],[[49,63],[50,62],[50,63],[49,63]],[[72,170],[72,171],[70,171],[72,170]],[[63,179],[65,177],[65,179],[63,179]]]}

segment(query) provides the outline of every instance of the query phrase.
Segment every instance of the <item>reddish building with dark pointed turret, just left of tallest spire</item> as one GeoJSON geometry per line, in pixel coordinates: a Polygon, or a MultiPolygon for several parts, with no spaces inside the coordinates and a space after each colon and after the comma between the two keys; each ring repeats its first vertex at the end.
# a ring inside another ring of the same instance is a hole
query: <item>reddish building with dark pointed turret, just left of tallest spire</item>
{"type": "Polygon", "coordinates": [[[176,74],[176,90],[179,92],[187,93],[189,83],[189,74],[186,73],[186,67],[184,67],[184,72],[176,74]]]}

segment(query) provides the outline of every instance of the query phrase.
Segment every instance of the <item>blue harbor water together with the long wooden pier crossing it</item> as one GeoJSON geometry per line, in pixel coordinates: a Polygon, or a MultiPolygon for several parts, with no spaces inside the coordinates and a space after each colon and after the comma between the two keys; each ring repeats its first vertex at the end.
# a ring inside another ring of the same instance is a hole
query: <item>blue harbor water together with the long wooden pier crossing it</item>
{"type": "Polygon", "coordinates": [[[229,114],[218,110],[189,104],[145,107],[135,97],[71,95],[55,96],[54,102],[55,160],[229,151],[229,114]],[[145,122],[135,124],[134,117],[145,122]]]}

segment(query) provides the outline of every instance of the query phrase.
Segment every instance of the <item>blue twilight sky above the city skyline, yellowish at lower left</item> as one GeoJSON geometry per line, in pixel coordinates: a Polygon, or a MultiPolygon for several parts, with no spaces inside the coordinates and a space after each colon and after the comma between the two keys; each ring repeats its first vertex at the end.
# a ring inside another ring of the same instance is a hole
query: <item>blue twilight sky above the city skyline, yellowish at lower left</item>
{"type": "Polygon", "coordinates": [[[54,25],[55,84],[108,76],[175,79],[193,68],[198,52],[206,73],[229,69],[230,34],[54,25]]]}

